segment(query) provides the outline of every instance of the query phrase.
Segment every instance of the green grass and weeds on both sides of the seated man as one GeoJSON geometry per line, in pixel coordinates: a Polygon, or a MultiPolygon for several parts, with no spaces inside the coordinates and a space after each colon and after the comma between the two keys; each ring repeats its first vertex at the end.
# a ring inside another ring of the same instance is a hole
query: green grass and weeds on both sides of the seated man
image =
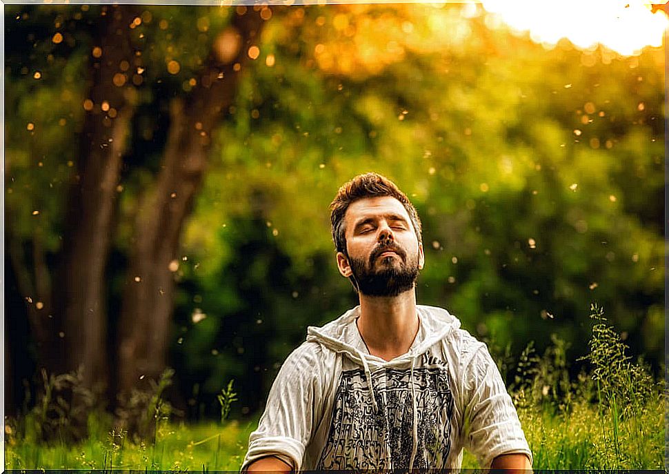
{"type": "MultiPolygon", "coordinates": [[[[541,357],[530,344],[516,364],[509,388],[534,455],[533,467],[663,469],[663,385],[652,379],[642,360],[632,362],[615,330],[606,325],[603,310],[597,305],[591,309],[590,353],[582,358],[588,362],[588,372],[569,379],[568,347],[557,338],[541,357]]],[[[65,383],[44,379],[47,388],[65,383]]],[[[76,377],[68,380],[76,382],[76,377]]],[[[232,382],[218,398],[220,422],[208,424],[170,421],[169,405],[159,396],[168,383],[161,379],[154,393],[143,397],[145,406],[134,407],[137,413],[153,414],[152,429],[143,437],[148,442],[110,430],[110,418],[99,415],[89,416],[89,436],[75,442],[63,435],[68,426],[63,417],[71,411],[62,400],[61,419],[50,428],[61,435],[40,442],[43,417],[52,404],[41,399],[26,417],[6,425],[5,468],[237,471],[257,418],[247,424],[226,421],[230,404],[237,399],[232,382]]],[[[466,452],[463,468],[478,467],[466,452]]]]}

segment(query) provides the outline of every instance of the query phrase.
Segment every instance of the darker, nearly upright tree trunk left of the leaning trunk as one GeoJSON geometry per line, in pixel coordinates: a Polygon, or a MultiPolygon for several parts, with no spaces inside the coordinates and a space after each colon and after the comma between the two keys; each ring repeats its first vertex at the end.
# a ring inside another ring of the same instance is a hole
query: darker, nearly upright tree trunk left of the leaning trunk
{"type": "Polygon", "coordinates": [[[78,173],[68,203],[68,235],[63,241],[59,309],[64,315],[61,338],[66,369],[83,369],[83,384],[108,382],[106,358],[105,267],[114,226],[121,157],[126,150],[134,111],[132,72],[138,57],[128,26],[134,6],[106,8],[108,23],[92,50],[94,70],[83,131],[79,137],[78,173]]]}

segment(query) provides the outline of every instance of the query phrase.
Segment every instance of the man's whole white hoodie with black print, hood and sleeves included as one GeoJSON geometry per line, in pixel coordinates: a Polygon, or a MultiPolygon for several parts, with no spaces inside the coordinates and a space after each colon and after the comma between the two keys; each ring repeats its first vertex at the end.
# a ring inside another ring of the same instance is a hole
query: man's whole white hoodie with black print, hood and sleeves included
{"type": "Polygon", "coordinates": [[[410,350],[388,362],[368,352],[359,306],[308,328],[272,385],[242,470],[267,455],[296,471],[459,468],[463,447],[483,468],[507,453],[532,460],[486,345],[448,311],[417,309],[410,350]]]}

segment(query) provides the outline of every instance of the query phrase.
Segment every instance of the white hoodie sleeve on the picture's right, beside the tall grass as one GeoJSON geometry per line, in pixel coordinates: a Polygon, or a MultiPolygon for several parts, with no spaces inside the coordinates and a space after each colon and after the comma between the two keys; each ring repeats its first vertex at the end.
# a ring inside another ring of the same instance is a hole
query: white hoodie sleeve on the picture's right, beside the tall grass
{"type": "Polygon", "coordinates": [[[532,452],[499,370],[485,344],[478,344],[462,373],[463,446],[484,469],[502,454],[523,453],[532,462],[532,452]]]}

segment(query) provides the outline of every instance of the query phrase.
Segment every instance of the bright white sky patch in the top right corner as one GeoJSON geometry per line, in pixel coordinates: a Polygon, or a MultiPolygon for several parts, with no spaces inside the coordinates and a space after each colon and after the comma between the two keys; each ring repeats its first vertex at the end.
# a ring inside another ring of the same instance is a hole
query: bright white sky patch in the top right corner
{"type": "MultiPolygon", "coordinates": [[[[656,0],[663,3],[662,0],[656,0]]],[[[562,37],[580,48],[601,43],[621,55],[643,46],[662,46],[669,20],[652,13],[643,0],[482,0],[516,30],[529,30],[532,40],[555,44],[562,37]]]]}

